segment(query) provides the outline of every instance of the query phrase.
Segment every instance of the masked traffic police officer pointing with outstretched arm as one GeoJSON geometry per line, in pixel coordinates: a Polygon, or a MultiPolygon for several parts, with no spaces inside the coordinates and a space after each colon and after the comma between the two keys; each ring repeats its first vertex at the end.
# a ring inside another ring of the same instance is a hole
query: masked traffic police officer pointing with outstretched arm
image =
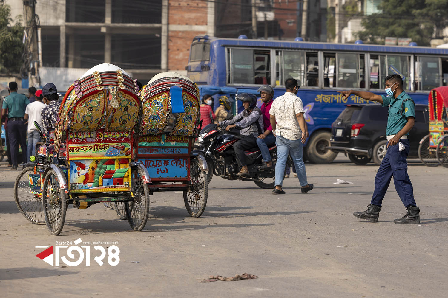
{"type": "Polygon", "coordinates": [[[409,154],[409,130],[414,127],[415,103],[403,91],[403,80],[399,75],[390,75],[385,79],[387,96],[376,95],[365,91],[338,91],[344,99],[351,94],[369,101],[378,101],[383,107],[389,107],[388,126],[386,128],[387,153],[379,166],[375,176],[375,191],[370,205],[363,212],[354,212],[353,215],[370,222],[378,222],[381,202],[389,187],[393,176],[396,192],[406,207],[407,213],[402,218],[394,220],[397,224],[419,224],[419,209],[415,204],[414,191],[408,176],[407,157],[409,154]]]}

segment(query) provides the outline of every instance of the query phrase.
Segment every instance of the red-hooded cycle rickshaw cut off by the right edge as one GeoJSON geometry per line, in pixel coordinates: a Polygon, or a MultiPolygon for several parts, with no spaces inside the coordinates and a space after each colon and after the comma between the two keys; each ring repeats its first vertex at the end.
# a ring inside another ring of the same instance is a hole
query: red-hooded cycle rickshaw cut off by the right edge
{"type": "Polygon", "coordinates": [[[420,140],[418,157],[427,166],[448,167],[448,86],[431,90],[428,110],[429,134],[420,140]]]}

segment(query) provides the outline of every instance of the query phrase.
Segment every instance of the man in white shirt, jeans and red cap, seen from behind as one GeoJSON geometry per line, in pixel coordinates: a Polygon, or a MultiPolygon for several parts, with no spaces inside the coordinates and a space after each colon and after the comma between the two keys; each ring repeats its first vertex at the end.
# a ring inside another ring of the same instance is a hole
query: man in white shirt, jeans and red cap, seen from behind
{"type": "Polygon", "coordinates": [[[42,116],[40,115],[40,112],[44,107],[45,104],[42,102],[42,90],[36,91],[35,101],[26,106],[25,116],[23,117],[28,121],[28,148],[26,151],[28,160],[25,162],[30,161],[30,156],[33,155],[36,150],[36,143],[40,142],[39,130],[34,126],[34,121],[42,127],[42,116]]]}

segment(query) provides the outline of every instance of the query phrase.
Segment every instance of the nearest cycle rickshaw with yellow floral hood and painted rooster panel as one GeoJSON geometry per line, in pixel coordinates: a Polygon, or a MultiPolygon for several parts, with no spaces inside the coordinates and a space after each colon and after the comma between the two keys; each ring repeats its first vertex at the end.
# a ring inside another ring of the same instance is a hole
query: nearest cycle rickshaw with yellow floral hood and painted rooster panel
{"type": "Polygon", "coordinates": [[[17,206],[28,220],[45,223],[58,235],[68,204],[85,209],[99,202],[124,202],[132,229],[145,227],[151,179],[133,161],[141,107],[136,82],[121,68],[103,63],[69,88],[56,129],[14,185],[17,206]],[[27,212],[29,206],[34,211],[27,212]]]}

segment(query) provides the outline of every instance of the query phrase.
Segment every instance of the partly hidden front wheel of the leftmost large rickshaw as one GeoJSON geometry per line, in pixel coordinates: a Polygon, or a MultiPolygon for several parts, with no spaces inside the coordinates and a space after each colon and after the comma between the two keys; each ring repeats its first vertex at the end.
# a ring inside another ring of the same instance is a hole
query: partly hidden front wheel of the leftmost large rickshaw
{"type": "Polygon", "coordinates": [[[30,176],[34,173],[33,167],[27,167],[19,173],[14,183],[14,199],[20,213],[30,222],[37,225],[44,225],[42,196],[31,193],[30,176]]]}

